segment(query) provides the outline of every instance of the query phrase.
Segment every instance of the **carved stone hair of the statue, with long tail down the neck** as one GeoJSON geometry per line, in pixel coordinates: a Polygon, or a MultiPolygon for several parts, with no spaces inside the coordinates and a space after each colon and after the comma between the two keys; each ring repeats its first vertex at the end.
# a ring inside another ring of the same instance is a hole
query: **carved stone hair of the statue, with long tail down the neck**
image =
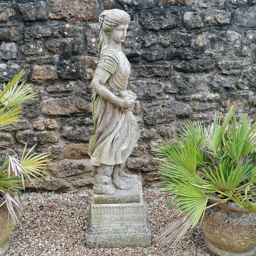
{"type": "Polygon", "coordinates": [[[130,20],[130,15],[119,9],[104,10],[99,15],[99,25],[101,27],[98,45],[99,53],[109,48],[109,37],[107,32],[111,31],[120,24],[128,24],[130,20]]]}

